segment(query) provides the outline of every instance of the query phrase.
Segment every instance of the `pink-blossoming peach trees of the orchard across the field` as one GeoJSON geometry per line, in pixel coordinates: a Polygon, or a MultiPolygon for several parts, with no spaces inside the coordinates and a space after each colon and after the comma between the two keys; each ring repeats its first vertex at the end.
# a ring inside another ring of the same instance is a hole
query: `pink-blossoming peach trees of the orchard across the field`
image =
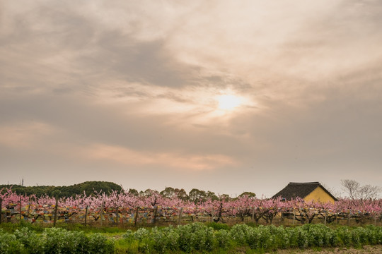
{"type": "MultiPolygon", "coordinates": [[[[2,214],[8,214],[8,217],[23,216],[32,222],[39,217],[50,217],[45,221],[52,221],[52,214],[57,202],[59,207],[59,218],[71,219],[73,214],[82,214],[89,211],[86,216],[93,217],[96,221],[103,214],[105,217],[125,218],[132,222],[134,211],[156,210],[158,214],[154,216],[164,219],[174,216],[190,215],[190,217],[210,217],[216,222],[226,222],[230,218],[251,217],[258,222],[264,219],[267,223],[272,223],[277,216],[292,216],[301,222],[312,222],[316,217],[325,216],[328,222],[335,219],[355,218],[359,221],[366,217],[381,220],[382,200],[349,200],[341,199],[331,203],[306,202],[302,199],[282,200],[281,198],[266,199],[253,198],[243,195],[238,198],[229,198],[220,196],[216,199],[207,199],[203,202],[190,202],[180,200],[177,197],[166,198],[158,191],[146,191],[142,195],[132,195],[127,191],[113,191],[110,195],[105,193],[94,193],[93,195],[77,195],[76,198],[55,198],[47,195],[36,197],[35,195],[17,195],[9,189],[1,190],[1,211],[2,214]],[[138,210],[137,210],[138,208],[138,210]]],[[[138,212],[136,213],[138,214],[138,212]]],[[[152,217],[152,214],[146,214],[146,217],[152,217]]],[[[122,218],[123,219],[123,218],[122,218]]],[[[111,219],[110,219],[111,220],[111,219]]]]}

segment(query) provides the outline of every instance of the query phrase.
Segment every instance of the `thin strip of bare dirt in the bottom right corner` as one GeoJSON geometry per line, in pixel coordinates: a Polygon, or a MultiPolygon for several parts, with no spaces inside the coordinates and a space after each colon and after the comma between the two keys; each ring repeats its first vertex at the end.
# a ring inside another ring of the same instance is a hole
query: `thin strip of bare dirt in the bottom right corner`
{"type": "Polygon", "coordinates": [[[364,246],[361,249],[355,248],[328,248],[325,250],[279,250],[273,254],[382,254],[382,246],[364,246]]]}

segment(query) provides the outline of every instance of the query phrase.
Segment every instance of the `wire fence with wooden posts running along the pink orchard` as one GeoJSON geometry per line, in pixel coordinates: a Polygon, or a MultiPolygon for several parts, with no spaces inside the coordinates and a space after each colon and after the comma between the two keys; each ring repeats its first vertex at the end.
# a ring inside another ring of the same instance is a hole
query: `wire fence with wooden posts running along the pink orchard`
{"type": "Polygon", "coordinates": [[[332,212],[298,208],[270,212],[262,207],[60,207],[55,205],[11,204],[1,209],[0,223],[53,224],[81,223],[93,226],[141,226],[222,222],[226,224],[374,224],[381,226],[382,215],[369,212],[332,212]]]}

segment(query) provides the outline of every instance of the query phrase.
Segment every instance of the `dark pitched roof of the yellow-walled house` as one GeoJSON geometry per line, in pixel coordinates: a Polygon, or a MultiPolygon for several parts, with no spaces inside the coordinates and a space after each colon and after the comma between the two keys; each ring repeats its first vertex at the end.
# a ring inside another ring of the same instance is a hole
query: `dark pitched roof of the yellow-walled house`
{"type": "Polygon", "coordinates": [[[327,189],[325,189],[319,182],[310,182],[310,183],[289,183],[285,188],[283,188],[281,191],[276,193],[272,198],[276,198],[281,196],[282,198],[285,198],[286,200],[291,200],[294,198],[305,198],[307,195],[309,195],[312,191],[316,190],[316,188],[323,188],[325,193],[328,193],[330,197],[332,197],[334,200],[337,201],[337,198],[335,198],[327,189]]]}

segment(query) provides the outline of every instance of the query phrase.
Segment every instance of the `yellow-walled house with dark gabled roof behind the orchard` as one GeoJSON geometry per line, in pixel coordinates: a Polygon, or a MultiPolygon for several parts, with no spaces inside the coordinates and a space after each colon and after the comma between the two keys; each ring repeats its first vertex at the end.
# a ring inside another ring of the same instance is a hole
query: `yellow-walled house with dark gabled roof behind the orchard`
{"type": "Polygon", "coordinates": [[[276,193],[272,198],[282,197],[285,200],[303,198],[305,201],[331,202],[337,201],[327,189],[319,182],[311,183],[289,183],[287,187],[276,193]]]}

